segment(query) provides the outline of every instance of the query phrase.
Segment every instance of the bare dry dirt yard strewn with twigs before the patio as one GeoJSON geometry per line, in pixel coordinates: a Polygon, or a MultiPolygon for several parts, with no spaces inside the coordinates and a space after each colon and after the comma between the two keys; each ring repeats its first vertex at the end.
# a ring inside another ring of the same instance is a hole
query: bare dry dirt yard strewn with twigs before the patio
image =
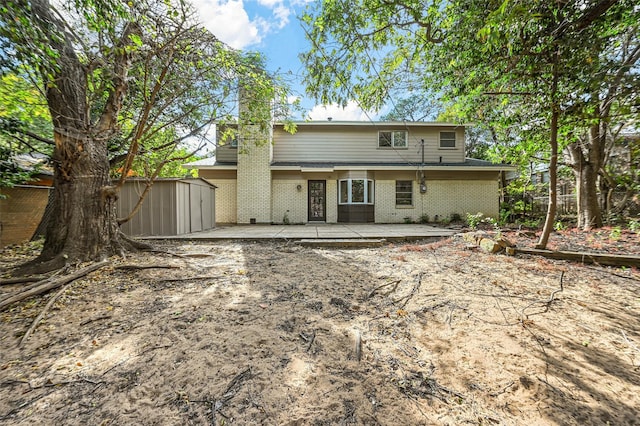
{"type": "Polygon", "coordinates": [[[459,238],[159,244],[181,256],[112,259],[21,347],[51,295],[1,314],[1,424],[640,424],[637,270],[459,238]]]}

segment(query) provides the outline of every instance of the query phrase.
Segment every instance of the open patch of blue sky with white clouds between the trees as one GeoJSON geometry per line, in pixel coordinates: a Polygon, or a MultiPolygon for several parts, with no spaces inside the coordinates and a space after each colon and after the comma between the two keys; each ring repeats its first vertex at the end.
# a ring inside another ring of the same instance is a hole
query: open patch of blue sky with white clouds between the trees
{"type": "MultiPolygon", "coordinates": [[[[308,49],[300,16],[307,0],[192,0],[205,25],[229,46],[266,55],[269,71],[284,74],[313,120],[369,120],[355,102],[345,109],[316,105],[304,96],[303,65],[298,54],[308,49]]],[[[375,118],[375,114],[370,114],[375,118]]]]}

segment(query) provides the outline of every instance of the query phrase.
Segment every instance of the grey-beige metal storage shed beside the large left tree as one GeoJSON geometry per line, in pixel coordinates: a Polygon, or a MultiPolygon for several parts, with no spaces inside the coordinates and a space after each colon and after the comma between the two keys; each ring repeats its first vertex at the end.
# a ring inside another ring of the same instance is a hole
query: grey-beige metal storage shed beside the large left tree
{"type": "MultiPolygon", "coordinates": [[[[120,190],[118,217],[126,217],[144,192],[144,179],[120,190]]],[[[171,236],[215,228],[215,186],[204,179],[157,179],[140,210],[121,229],[130,236],[171,236]]]]}

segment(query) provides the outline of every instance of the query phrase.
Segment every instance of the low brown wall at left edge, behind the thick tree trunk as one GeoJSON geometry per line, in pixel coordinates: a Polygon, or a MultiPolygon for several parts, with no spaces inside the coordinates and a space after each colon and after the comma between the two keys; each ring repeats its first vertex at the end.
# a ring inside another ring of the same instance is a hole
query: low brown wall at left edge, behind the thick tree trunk
{"type": "Polygon", "coordinates": [[[27,242],[33,236],[49,199],[47,187],[3,188],[0,199],[0,247],[27,242]]]}

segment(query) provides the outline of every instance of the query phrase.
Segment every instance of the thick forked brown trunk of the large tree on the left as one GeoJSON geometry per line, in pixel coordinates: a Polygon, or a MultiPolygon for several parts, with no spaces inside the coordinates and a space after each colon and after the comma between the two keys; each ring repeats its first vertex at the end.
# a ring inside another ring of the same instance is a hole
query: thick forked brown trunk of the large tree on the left
{"type": "MultiPolygon", "coordinates": [[[[74,51],[73,37],[51,12],[48,0],[32,0],[31,5],[46,42],[56,53],[55,65],[41,70],[54,126],[55,196],[42,253],[20,270],[42,273],[65,263],[100,260],[122,252],[125,245],[130,247],[118,229],[107,150],[126,94],[130,58],[126,46],[118,46],[113,68],[108,70],[112,84],[104,109],[92,122],[87,71],[74,51]]],[[[135,24],[124,28],[123,43],[131,43],[134,31],[139,31],[135,24]]]]}

